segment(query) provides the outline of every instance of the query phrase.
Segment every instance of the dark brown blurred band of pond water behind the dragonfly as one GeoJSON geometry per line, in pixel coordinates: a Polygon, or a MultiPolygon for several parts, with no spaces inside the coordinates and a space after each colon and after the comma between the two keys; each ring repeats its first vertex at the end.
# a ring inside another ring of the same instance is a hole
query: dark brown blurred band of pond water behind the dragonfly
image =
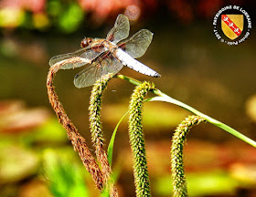
{"type": "MultiPolygon", "coordinates": [[[[144,57],[139,60],[162,77],[149,78],[128,67],[123,67],[121,73],[154,81],[156,87],[167,95],[252,136],[251,124],[255,123],[251,122],[245,107],[247,99],[255,95],[256,90],[255,31],[244,43],[230,47],[217,40],[208,24],[145,27],[155,35],[144,57]]],[[[132,26],[132,33],[139,28],[132,26]]],[[[0,56],[0,99],[22,99],[28,106],[50,109],[46,89],[48,59],[78,49],[83,36],[104,37],[107,31],[106,27],[102,31],[90,30],[72,36],[24,32],[5,36],[0,56]]],[[[73,77],[79,70],[59,71],[55,85],[69,116],[82,130],[87,130],[91,88],[73,86],[73,77]]],[[[133,85],[112,79],[104,105],[128,105],[132,91],[133,85]]]]}

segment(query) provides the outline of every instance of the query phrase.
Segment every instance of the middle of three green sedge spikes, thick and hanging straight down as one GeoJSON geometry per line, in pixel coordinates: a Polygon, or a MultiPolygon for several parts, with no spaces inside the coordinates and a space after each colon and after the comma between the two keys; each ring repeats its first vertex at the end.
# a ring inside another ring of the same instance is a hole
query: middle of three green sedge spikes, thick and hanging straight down
{"type": "Polygon", "coordinates": [[[146,93],[155,85],[144,82],[137,86],[130,101],[129,138],[133,151],[133,175],[137,197],[151,196],[146,165],[144,133],[142,125],[143,102],[146,93]]]}

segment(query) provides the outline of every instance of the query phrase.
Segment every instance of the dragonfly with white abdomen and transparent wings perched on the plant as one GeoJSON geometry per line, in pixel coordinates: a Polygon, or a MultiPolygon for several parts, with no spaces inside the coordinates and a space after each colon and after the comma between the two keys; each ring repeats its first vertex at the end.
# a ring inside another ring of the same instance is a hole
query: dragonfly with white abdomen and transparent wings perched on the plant
{"type": "Polygon", "coordinates": [[[135,59],[144,55],[152,41],[153,33],[147,29],[141,29],[130,38],[127,38],[129,31],[128,17],[119,15],[105,39],[85,37],[80,42],[81,48],[79,50],[51,57],[49,66],[52,67],[60,61],[63,61],[60,69],[87,66],[74,78],[74,85],[77,88],[89,87],[108,73],[115,75],[123,66],[130,67],[147,76],[161,77],[155,70],[135,59]],[[73,57],[85,58],[90,60],[90,63],[88,61],[72,63],[67,61],[65,63],[65,60],[73,57]]]}

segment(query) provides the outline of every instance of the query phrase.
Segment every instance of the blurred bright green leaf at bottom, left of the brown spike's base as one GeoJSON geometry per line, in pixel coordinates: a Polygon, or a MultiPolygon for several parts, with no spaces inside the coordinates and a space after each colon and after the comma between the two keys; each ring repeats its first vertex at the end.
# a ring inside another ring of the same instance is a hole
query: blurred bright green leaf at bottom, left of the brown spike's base
{"type": "Polygon", "coordinates": [[[45,150],[44,171],[49,189],[55,197],[90,196],[84,181],[84,169],[68,150],[45,150]]]}

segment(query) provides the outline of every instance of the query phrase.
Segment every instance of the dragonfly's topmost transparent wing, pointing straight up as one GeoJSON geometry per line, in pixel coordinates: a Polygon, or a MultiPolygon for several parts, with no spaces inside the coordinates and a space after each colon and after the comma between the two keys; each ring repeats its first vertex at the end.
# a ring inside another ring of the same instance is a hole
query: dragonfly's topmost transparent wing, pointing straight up
{"type": "Polygon", "coordinates": [[[116,18],[115,24],[107,35],[107,39],[113,43],[118,43],[120,40],[129,36],[130,24],[127,16],[119,15],[116,18]]]}

